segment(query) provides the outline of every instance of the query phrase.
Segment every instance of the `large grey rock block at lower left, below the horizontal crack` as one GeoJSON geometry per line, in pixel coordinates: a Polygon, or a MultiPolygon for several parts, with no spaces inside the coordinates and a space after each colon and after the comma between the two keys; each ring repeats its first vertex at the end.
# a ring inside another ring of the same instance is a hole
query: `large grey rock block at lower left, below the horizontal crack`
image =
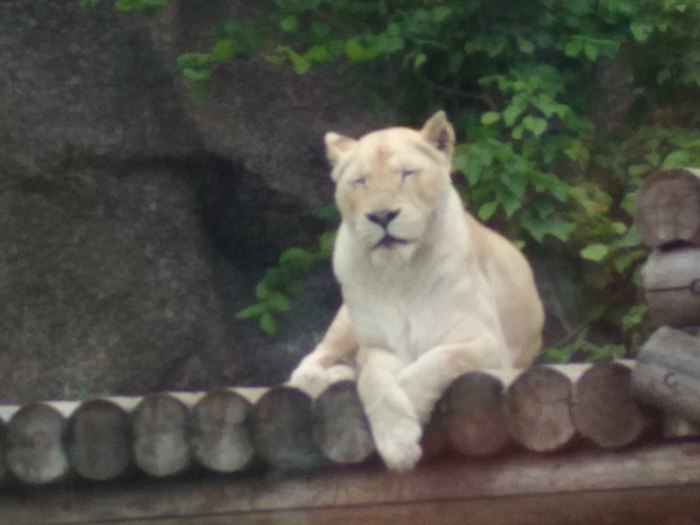
{"type": "Polygon", "coordinates": [[[71,170],[3,194],[2,398],[153,390],[195,354],[209,381],[233,371],[193,199],[156,169],[71,170]]]}

